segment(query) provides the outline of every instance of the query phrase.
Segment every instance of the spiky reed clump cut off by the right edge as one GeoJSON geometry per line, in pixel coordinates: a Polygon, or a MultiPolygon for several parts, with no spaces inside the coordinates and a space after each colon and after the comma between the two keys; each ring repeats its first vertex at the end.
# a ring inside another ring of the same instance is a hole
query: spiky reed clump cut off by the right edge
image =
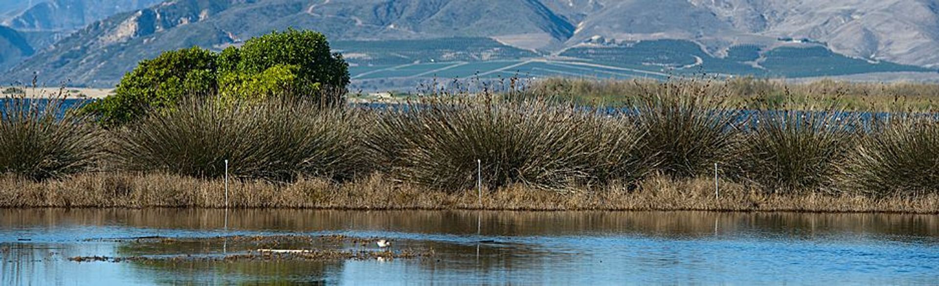
{"type": "Polygon", "coordinates": [[[939,121],[898,117],[861,138],[843,168],[846,188],[874,197],[939,193],[939,121]]]}

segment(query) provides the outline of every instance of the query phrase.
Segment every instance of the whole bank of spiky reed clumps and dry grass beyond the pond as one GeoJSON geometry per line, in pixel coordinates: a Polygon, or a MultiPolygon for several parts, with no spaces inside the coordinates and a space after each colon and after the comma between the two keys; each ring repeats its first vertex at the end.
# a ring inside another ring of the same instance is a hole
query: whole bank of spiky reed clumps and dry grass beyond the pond
{"type": "Polygon", "coordinates": [[[56,99],[8,98],[0,206],[222,207],[227,161],[233,207],[939,208],[936,113],[746,110],[730,83],[707,84],[647,85],[612,112],[532,90],[384,109],[202,96],[108,128],[56,99]]]}

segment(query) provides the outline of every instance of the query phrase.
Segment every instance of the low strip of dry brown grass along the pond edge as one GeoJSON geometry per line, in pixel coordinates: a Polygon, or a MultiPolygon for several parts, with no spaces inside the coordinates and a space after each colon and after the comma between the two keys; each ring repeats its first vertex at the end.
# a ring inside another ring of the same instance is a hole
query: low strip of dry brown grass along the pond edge
{"type": "MultiPolygon", "coordinates": [[[[82,173],[36,182],[0,177],[0,207],[195,207],[223,208],[224,183],[171,174],[82,173]]],[[[793,212],[896,212],[939,214],[939,195],[871,198],[822,193],[770,194],[757,188],[714,180],[675,181],[653,177],[639,188],[577,188],[556,192],[521,185],[484,190],[482,204],[474,189],[444,192],[394,182],[375,174],[345,184],[300,179],[292,184],[234,181],[235,208],[317,209],[488,209],[488,210],[713,210],[793,212]]]]}

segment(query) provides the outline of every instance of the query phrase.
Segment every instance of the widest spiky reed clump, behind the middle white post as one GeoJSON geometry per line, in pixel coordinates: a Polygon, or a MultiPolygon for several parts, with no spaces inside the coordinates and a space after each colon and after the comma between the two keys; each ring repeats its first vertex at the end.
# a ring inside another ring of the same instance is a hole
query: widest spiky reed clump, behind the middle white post
{"type": "MultiPolygon", "coordinates": [[[[485,97],[485,95],[483,96],[485,97]]],[[[433,98],[377,116],[368,145],[388,172],[434,188],[568,188],[641,176],[641,135],[545,100],[433,98]],[[481,171],[480,171],[481,170],[481,171]]]]}

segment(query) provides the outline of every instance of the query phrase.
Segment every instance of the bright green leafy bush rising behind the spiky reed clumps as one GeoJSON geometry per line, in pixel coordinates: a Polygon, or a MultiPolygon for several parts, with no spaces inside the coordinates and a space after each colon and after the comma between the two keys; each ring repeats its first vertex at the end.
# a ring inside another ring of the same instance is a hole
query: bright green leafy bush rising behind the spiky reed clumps
{"type": "Polygon", "coordinates": [[[115,127],[192,95],[221,95],[228,101],[303,96],[335,103],[342,101],[348,83],[346,61],[330,52],[322,34],[289,29],[223,53],[192,48],[144,60],[121,79],[114,96],[89,104],[85,112],[115,127]]]}

